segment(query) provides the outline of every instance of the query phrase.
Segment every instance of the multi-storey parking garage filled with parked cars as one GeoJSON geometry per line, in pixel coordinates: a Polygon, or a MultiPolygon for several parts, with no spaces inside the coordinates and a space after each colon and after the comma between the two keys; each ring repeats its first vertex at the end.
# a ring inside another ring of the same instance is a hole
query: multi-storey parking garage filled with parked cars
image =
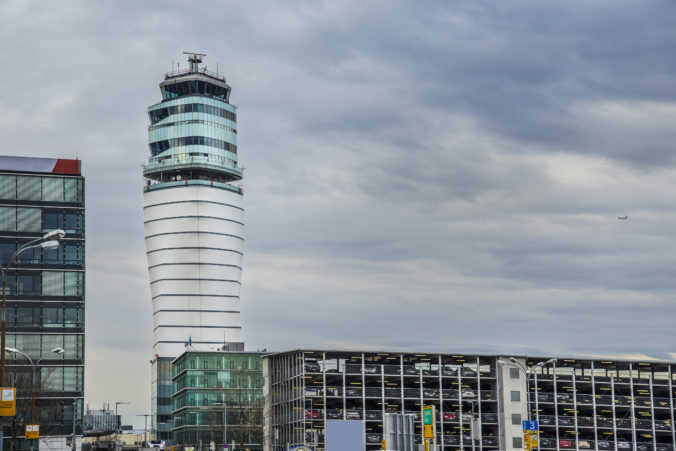
{"type": "Polygon", "coordinates": [[[388,412],[415,414],[421,443],[422,406],[434,405],[443,450],[521,449],[521,422],[532,419],[539,421],[543,450],[673,451],[675,366],[396,352],[274,354],[264,363],[266,443],[274,450],[314,443],[324,449],[326,420],[358,420],[366,449],[380,449],[388,412]]]}

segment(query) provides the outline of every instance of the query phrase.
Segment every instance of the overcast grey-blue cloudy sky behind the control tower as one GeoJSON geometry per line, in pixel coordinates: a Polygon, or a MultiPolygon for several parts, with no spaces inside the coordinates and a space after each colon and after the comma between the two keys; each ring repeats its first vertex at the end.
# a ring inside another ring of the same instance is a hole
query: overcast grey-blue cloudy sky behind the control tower
{"type": "Polygon", "coordinates": [[[1,152],[83,162],[90,407],[150,409],[140,165],[184,50],[239,106],[248,349],[676,359],[673,1],[1,0],[0,20],[1,152]]]}

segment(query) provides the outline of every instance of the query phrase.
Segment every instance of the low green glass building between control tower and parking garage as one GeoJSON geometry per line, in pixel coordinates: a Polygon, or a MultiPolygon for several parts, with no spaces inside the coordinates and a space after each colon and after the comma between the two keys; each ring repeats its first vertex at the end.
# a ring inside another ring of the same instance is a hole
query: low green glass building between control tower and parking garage
{"type": "Polygon", "coordinates": [[[262,353],[186,351],[172,369],[176,444],[223,448],[226,415],[229,444],[263,449],[262,353]]]}

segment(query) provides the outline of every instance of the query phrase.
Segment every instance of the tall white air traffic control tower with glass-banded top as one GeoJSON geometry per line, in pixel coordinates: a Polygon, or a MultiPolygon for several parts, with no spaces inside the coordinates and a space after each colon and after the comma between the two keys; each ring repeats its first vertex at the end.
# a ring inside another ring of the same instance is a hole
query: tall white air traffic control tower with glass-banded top
{"type": "Polygon", "coordinates": [[[199,67],[167,73],[148,108],[143,220],[153,304],[152,409],[171,429],[170,363],[187,346],[244,350],[240,323],[242,179],[236,107],[225,77],[199,67]]]}

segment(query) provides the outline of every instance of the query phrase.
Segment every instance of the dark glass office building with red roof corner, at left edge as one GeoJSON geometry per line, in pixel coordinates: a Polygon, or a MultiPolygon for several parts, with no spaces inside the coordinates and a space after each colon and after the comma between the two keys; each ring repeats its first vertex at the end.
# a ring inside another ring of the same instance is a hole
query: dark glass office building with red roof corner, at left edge
{"type": "MultiPolygon", "coordinates": [[[[40,444],[65,445],[74,417],[82,416],[84,393],[84,178],[79,160],[0,156],[0,263],[24,244],[54,229],[66,237],[54,250],[40,246],[24,251],[7,272],[5,385],[17,387],[15,417],[0,417],[4,446],[37,447],[24,440],[31,422],[35,390],[35,423],[40,444]],[[52,353],[62,348],[63,353],[52,353]],[[42,357],[42,359],[40,359],[42,357]],[[39,363],[38,363],[39,360],[39,363]]],[[[81,429],[78,426],[78,432],[81,429]]]]}

